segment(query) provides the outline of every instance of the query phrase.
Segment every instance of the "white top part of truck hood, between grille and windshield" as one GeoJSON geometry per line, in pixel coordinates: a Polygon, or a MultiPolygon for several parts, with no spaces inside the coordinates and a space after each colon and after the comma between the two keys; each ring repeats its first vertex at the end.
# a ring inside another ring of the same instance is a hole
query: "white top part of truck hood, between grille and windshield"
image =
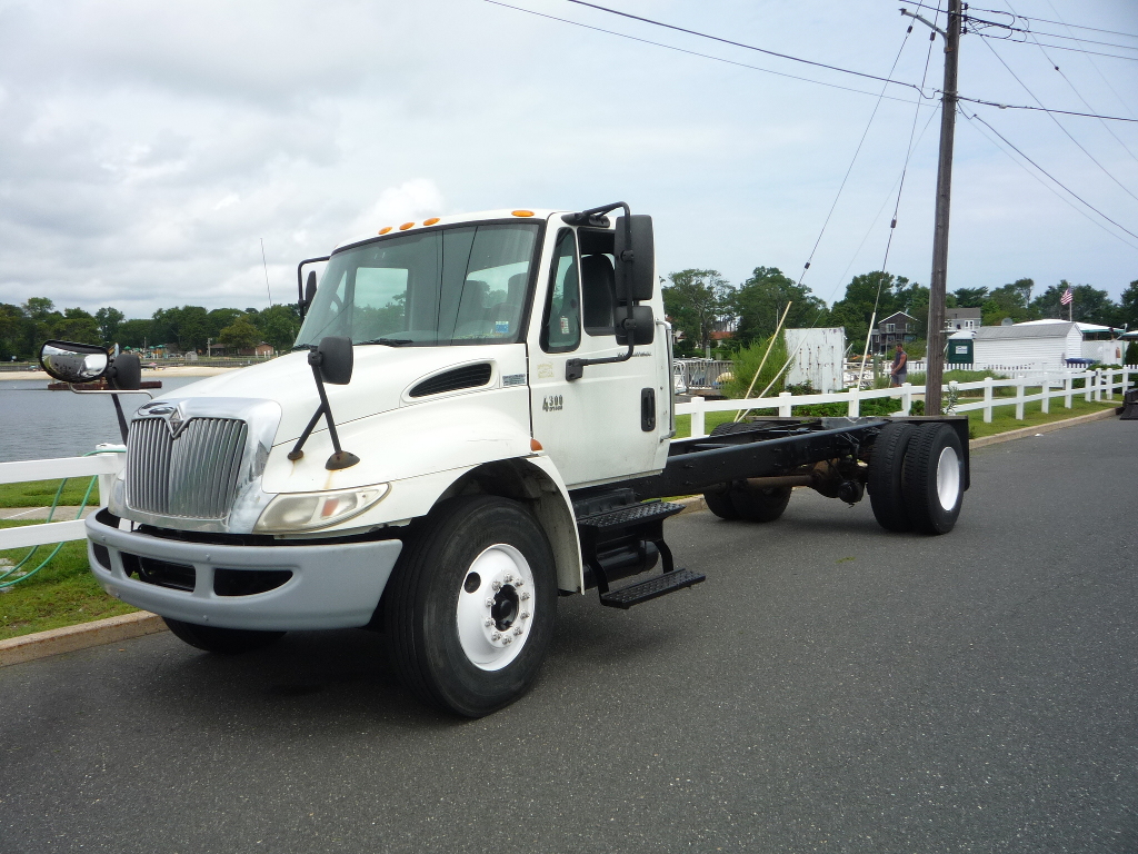
{"type": "MultiPolygon", "coordinates": [[[[525,364],[523,344],[494,344],[450,347],[386,347],[381,345],[355,347],[352,381],[346,386],[325,385],[328,402],[337,426],[387,412],[399,407],[434,401],[443,396],[471,394],[502,387],[500,363],[505,359],[525,364]],[[522,355],[519,360],[518,356],[522,355]],[[512,359],[510,358],[512,356],[512,359]],[[459,388],[432,395],[411,397],[410,392],[424,379],[455,368],[488,363],[487,383],[472,388],[459,388]]],[[[242,368],[209,377],[180,388],[163,400],[180,401],[189,397],[240,397],[275,401],[281,408],[281,421],[273,445],[295,442],[304,432],[320,396],[307,361],[306,351],[290,353],[263,364],[242,368]]],[[[509,385],[523,385],[525,373],[513,375],[509,385]]],[[[316,432],[327,429],[321,421],[316,432]]]]}

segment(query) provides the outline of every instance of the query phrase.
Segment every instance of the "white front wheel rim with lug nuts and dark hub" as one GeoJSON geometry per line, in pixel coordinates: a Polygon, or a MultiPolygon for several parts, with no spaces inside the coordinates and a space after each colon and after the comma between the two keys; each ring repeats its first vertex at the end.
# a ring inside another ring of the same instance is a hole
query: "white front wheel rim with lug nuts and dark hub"
{"type": "Polygon", "coordinates": [[[512,545],[486,549],[459,588],[459,642],[479,670],[500,671],[517,658],[534,623],[534,573],[512,545]]]}

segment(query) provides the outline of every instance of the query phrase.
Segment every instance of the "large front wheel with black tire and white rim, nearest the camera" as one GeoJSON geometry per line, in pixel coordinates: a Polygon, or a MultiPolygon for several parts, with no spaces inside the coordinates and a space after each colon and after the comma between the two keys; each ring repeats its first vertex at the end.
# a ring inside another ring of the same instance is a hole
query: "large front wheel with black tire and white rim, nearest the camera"
{"type": "Polygon", "coordinates": [[[556,597],[553,553],[525,508],[450,499],[411,534],[384,593],[395,667],[429,705],[489,714],[537,678],[556,597]]]}

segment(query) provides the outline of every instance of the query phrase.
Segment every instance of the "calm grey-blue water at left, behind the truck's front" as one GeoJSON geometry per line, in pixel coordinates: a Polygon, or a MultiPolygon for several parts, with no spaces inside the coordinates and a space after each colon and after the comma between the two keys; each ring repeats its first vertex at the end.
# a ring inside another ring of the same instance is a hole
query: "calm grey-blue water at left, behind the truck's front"
{"type": "MultiPolygon", "coordinates": [[[[156,397],[204,377],[162,377],[156,397]]],[[[115,407],[107,394],[49,392],[46,379],[0,380],[0,462],[80,457],[100,442],[122,442],[115,407]]],[[[141,394],[122,395],[130,420],[147,402],[141,394]]]]}

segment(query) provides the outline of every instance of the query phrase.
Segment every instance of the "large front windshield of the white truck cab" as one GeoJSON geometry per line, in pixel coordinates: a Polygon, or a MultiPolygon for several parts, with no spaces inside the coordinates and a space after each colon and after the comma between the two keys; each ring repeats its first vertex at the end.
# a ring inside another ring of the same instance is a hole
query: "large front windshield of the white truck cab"
{"type": "Polygon", "coordinates": [[[512,344],[541,223],[412,232],[332,255],[297,347],[325,335],[354,344],[512,344]]]}

